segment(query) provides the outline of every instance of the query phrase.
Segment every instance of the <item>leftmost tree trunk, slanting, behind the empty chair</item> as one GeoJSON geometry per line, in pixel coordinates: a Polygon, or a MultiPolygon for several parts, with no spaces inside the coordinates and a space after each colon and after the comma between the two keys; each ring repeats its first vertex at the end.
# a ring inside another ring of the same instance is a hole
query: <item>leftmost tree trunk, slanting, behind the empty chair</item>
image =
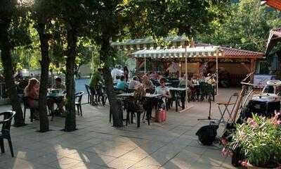
{"type": "MultiPolygon", "coordinates": [[[[1,14],[1,13],[0,13],[1,14]]],[[[10,27],[11,18],[0,18],[0,50],[1,61],[4,68],[4,77],[6,83],[6,92],[11,100],[13,111],[15,111],[15,127],[25,125],[22,115],[22,107],[18,98],[17,89],[15,87],[15,80],[13,78],[13,66],[11,58],[11,44],[8,37],[8,27],[10,27]]]]}

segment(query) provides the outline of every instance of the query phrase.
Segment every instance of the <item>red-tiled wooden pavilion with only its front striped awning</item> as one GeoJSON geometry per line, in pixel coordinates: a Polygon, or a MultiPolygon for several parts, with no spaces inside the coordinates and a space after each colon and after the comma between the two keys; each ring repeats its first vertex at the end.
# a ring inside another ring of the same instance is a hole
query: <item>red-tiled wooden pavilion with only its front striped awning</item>
{"type": "MultiPolygon", "coordinates": [[[[152,69],[157,69],[157,66],[162,65],[163,70],[168,70],[173,63],[178,64],[178,72],[185,73],[185,66],[188,68],[188,73],[200,73],[202,67],[207,65],[207,72],[216,72],[216,54],[204,54],[204,49],[214,46],[207,44],[197,44],[194,47],[197,52],[188,54],[191,57],[187,58],[185,64],[184,49],[143,49],[136,51],[131,56],[136,58],[137,68],[141,68],[147,62],[152,63],[152,69]]],[[[235,85],[244,78],[248,73],[256,70],[257,61],[263,60],[264,54],[255,51],[246,51],[242,49],[233,49],[225,46],[216,46],[220,53],[218,54],[218,68],[225,68],[230,73],[232,84],[235,85]]],[[[192,48],[190,48],[192,49],[192,48]]]]}

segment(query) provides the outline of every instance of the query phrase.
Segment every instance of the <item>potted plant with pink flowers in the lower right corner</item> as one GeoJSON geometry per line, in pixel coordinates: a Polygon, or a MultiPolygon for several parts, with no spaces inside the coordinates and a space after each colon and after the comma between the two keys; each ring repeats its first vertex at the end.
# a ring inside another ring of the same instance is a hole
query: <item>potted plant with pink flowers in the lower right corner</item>
{"type": "Polygon", "coordinates": [[[241,159],[244,168],[280,168],[281,115],[273,118],[253,115],[246,123],[236,126],[232,139],[225,145],[223,155],[241,159]]]}

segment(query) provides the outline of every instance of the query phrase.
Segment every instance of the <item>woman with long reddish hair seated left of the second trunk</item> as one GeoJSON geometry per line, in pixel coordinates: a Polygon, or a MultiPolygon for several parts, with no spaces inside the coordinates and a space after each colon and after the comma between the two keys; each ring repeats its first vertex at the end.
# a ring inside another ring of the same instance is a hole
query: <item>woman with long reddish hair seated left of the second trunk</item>
{"type": "Polygon", "coordinates": [[[34,108],[34,119],[36,120],[39,119],[39,87],[39,80],[32,78],[24,90],[24,96],[27,97],[28,106],[30,106],[30,108],[34,108]]]}

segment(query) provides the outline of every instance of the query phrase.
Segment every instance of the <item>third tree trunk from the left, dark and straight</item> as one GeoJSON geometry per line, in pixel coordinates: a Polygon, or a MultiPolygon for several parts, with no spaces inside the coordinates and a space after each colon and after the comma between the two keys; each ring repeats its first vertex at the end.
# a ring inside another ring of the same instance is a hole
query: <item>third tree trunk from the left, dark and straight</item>
{"type": "Polygon", "coordinates": [[[77,33],[74,27],[67,27],[67,60],[66,60],[66,111],[65,131],[76,130],[75,115],[75,83],[74,83],[74,64],[76,56],[77,33]]]}

